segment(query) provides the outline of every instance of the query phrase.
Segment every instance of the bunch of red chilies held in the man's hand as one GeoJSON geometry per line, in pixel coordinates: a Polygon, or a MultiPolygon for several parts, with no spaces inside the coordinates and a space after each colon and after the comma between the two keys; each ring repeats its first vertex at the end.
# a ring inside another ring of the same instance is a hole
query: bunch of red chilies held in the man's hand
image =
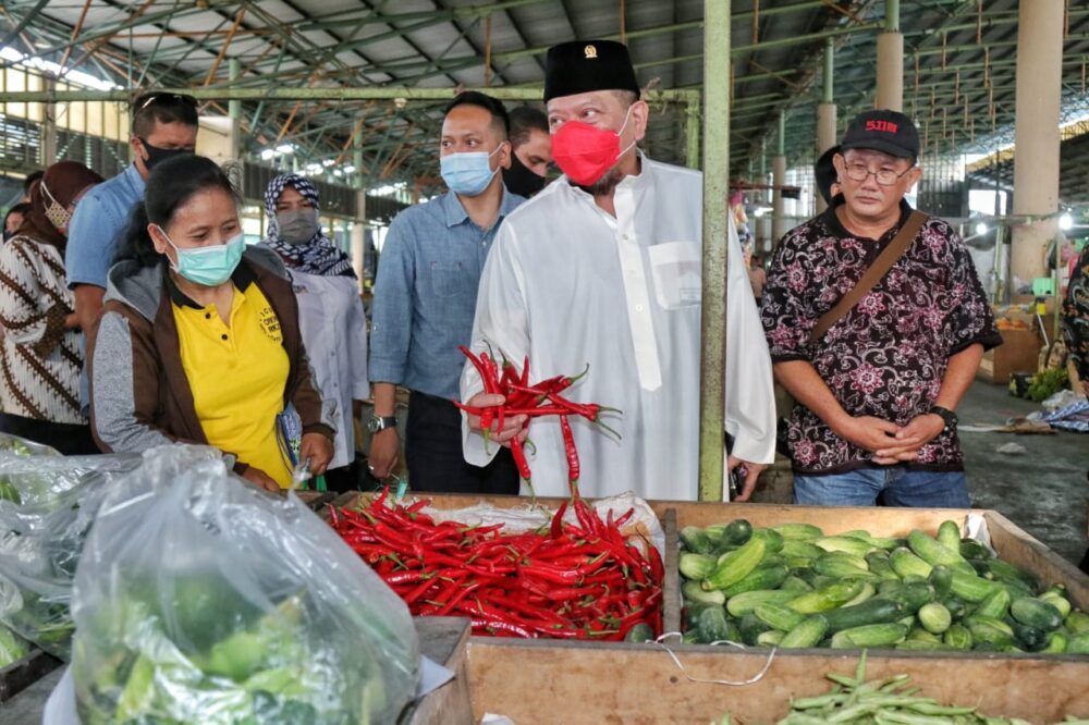
{"type": "MultiPolygon", "coordinates": [[[[480,417],[480,428],[484,429],[486,442],[488,440],[488,432],[492,426],[494,425],[497,430],[501,429],[503,421],[511,416],[528,416],[529,418],[560,416],[560,432],[563,434],[563,446],[567,457],[567,478],[571,482],[572,491],[577,493],[579,476],[578,451],[575,448],[575,437],[571,429],[571,416],[586,418],[620,438],[616,431],[601,420],[602,413],[620,413],[620,410],[597,405],[596,403],[575,403],[561,395],[563,391],[571,388],[589,372],[590,366],[587,365],[586,369],[574,378],[570,376],[555,376],[554,378],[549,378],[535,385],[530,385],[528,357],[526,357],[522,366],[522,372],[519,373],[515,369],[514,364],[510,362],[505,357],[502,364],[500,364],[495,360],[494,355],[482,352],[477,356],[464,345],[460,345],[457,349],[465,357],[469,358],[473,367],[480,374],[480,380],[484,381],[484,392],[502,395],[505,402],[503,405],[489,406],[487,408],[470,407],[460,401],[454,401],[454,405],[470,415],[480,417]],[[502,372],[500,372],[500,367],[502,367],[502,372]]],[[[525,479],[531,489],[533,481],[530,479],[529,462],[526,459],[525,450],[517,438],[511,441],[511,455],[518,467],[518,475],[525,479]]]]}

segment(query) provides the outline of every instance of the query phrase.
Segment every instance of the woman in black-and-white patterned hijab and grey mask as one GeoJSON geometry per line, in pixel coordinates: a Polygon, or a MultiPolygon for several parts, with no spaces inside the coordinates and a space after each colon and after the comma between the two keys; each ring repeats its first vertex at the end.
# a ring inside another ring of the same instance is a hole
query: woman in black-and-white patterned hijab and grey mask
{"type": "Polygon", "coordinates": [[[321,231],[318,191],[306,177],[283,174],[265,192],[268,237],[262,246],[283,260],[298,299],[303,343],[327,413],[337,421],[329,490],[358,488],[355,427],[367,381],[367,322],[351,258],[321,231]]]}

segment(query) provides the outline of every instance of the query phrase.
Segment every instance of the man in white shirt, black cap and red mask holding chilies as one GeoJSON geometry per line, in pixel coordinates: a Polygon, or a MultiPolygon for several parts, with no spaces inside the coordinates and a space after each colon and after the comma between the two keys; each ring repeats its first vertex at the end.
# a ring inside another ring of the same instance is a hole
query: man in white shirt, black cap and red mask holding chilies
{"type": "MultiPolygon", "coordinates": [[[[473,346],[521,365],[530,381],[589,374],[567,391],[582,403],[621,408],[621,440],[572,420],[579,490],[647,499],[697,494],[701,199],[699,172],[648,159],[636,148],[648,106],[625,46],[580,41],[549,50],[544,82],[552,153],[564,176],[507,217],[480,280],[473,346]]],[[[774,458],[771,361],[736,233],[731,228],[726,365],[729,464],[746,463],[739,500],[774,458]]],[[[497,405],[472,365],[462,400],[497,405]]],[[[506,421],[492,440],[527,432],[533,484],[566,495],[567,464],[555,417],[506,421]]],[[[465,459],[485,465],[479,419],[463,420],[465,459]]]]}

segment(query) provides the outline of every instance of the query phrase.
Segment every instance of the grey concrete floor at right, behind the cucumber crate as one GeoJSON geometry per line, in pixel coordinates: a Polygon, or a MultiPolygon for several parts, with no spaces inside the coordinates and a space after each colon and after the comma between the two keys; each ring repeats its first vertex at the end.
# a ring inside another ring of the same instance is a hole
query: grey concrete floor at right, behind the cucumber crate
{"type": "MultiPolygon", "coordinates": [[[[972,384],[957,414],[960,425],[1002,425],[1040,406],[1010,395],[1005,385],[972,384]]],[[[1065,558],[1085,554],[1086,506],[1089,504],[1089,434],[1055,435],[960,433],[971,503],[993,508],[1065,558]],[[1017,442],[1027,455],[996,448],[1017,442]]]]}

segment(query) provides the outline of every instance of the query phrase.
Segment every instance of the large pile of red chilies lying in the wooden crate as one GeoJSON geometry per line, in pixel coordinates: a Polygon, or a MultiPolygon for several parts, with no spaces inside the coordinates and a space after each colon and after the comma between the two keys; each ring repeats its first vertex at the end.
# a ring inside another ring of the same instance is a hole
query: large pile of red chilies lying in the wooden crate
{"type": "Polygon", "coordinates": [[[359,511],[331,508],[333,528],[414,615],[468,616],[478,635],[621,640],[637,625],[662,630],[664,568],[621,532],[633,513],[604,520],[582,499],[541,530],[436,521],[389,488],[359,511]]]}

